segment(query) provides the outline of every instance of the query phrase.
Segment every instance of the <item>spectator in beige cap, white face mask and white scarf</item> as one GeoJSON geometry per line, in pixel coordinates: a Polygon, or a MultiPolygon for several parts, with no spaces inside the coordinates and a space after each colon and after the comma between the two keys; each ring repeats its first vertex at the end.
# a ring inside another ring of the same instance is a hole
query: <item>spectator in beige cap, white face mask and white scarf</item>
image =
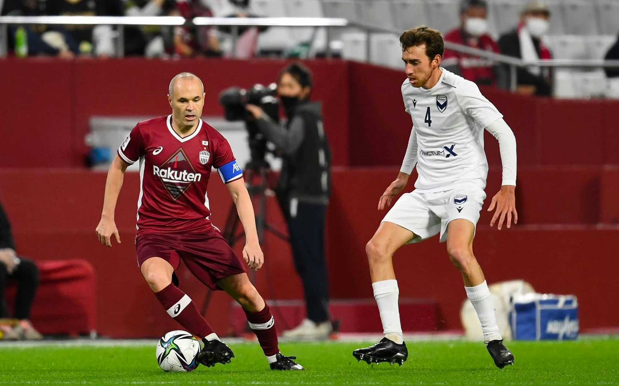
{"type": "MultiPolygon", "coordinates": [[[[524,61],[552,59],[542,42],[550,27],[550,10],[541,0],[530,1],[522,12],[518,27],[499,39],[501,53],[524,61]]],[[[552,72],[548,67],[529,66],[517,69],[517,92],[548,96],[552,92],[552,72]]]]}

